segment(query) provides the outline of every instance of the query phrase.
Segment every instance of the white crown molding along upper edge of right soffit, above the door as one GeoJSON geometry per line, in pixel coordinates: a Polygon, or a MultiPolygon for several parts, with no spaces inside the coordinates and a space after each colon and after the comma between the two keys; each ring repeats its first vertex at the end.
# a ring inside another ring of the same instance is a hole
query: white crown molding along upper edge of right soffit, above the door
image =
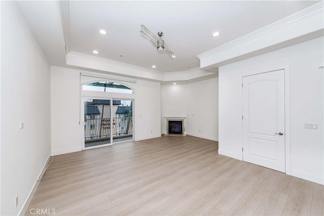
{"type": "MultiPolygon", "coordinates": [[[[317,24],[316,25],[317,29],[314,29],[313,31],[316,31],[316,30],[318,30],[318,25],[320,25],[320,22],[323,22],[323,20],[322,20],[323,6],[324,6],[324,2],[317,3],[311,7],[308,7],[308,8],[301,10],[295,14],[292,14],[292,15],[285,17],[281,20],[278,20],[272,24],[269,24],[263,28],[260,28],[258,30],[251,32],[251,33],[248,33],[238,39],[235,39],[235,40],[228,42],[224,45],[216,47],[216,48],[209,50],[205,53],[199,54],[197,57],[200,59],[200,67],[203,68],[203,67],[207,67],[207,66],[211,65],[211,64],[201,65],[201,61],[203,61],[204,59],[207,59],[210,57],[215,57],[215,55],[218,55],[226,50],[233,49],[233,48],[238,47],[242,44],[249,43],[251,41],[254,41],[254,40],[262,38],[262,37],[267,37],[268,35],[271,35],[272,32],[278,31],[279,29],[289,29],[289,27],[294,24],[305,24],[305,23],[303,23],[303,21],[307,22],[309,20],[309,18],[316,20],[317,22],[319,21],[319,23],[315,23],[315,24],[317,24]]],[[[311,23],[311,24],[314,24],[314,23],[311,23]]],[[[300,30],[302,30],[302,29],[300,29],[300,30]]],[[[296,37],[300,37],[300,36],[301,35],[296,35],[296,37]]]]}

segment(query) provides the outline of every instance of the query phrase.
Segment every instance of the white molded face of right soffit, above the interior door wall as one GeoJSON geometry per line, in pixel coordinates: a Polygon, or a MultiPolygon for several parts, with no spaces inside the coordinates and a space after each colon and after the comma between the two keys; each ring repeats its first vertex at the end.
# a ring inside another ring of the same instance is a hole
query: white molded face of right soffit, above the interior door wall
{"type": "MultiPolygon", "coordinates": [[[[280,43],[282,43],[282,47],[276,47],[276,49],[283,48],[285,47],[285,42],[322,30],[322,19],[323,2],[320,2],[215,49],[198,55],[198,58],[200,59],[200,67],[206,68],[211,65],[218,65],[221,64],[221,62],[230,59],[234,59],[234,62],[239,60],[236,59],[238,57],[249,55],[253,52],[280,43]]],[[[290,46],[291,45],[292,44],[290,44],[290,46]]],[[[253,56],[255,55],[249,55],[248,57],[250,58],[253,56]]]]}

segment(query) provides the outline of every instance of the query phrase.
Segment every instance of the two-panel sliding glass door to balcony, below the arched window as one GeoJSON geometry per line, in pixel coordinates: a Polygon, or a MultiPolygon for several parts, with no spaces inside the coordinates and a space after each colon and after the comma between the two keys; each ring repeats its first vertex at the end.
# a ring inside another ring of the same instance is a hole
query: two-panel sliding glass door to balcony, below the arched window
{"type": "Polygon", "coordinates": [[[83,98],[84,148],[134,140],[132,99],[83,98]]]}

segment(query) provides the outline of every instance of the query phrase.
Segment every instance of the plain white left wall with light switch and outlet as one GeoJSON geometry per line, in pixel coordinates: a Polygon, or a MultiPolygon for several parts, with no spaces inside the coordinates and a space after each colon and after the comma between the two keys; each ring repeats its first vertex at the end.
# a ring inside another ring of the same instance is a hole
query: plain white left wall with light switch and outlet
{"type": "Polygon", "coordinates": [[[1,5],[1,214],[18,215],[51,153],[50,66],[16,3],[1,5]]]}

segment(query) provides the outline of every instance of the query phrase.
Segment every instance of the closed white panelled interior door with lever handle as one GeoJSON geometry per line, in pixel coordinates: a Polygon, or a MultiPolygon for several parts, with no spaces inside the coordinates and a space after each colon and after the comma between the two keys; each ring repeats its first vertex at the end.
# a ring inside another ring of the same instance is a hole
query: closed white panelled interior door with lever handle
{"type": "Polygon", "coordinates": [[[285,172],[285,70],[242,82],[243,160],[285,172]]]}

